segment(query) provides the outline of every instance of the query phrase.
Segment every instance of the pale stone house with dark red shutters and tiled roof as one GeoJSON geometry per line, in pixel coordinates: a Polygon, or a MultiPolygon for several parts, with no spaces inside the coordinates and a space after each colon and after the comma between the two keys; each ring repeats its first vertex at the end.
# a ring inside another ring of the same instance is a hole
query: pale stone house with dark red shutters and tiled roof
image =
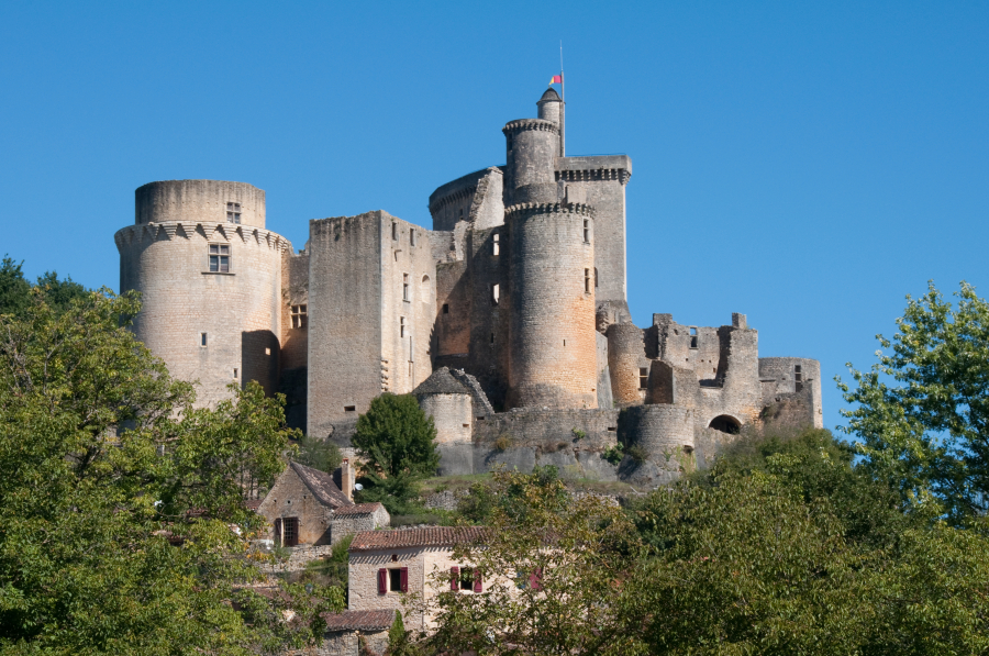
{"type": "MultiPolygon", "coordinates": [[[[484,592],[485,580],[475,576],[469,563],[454,559],[453,547],[482,538],[485,531],[481,526],[431,526],[358,533],[349,549],[349,610],[405,612],[407,593],[427,603],[436,594],[432,576],[440,572],[448,576],[451,589],[464,594],[484,592]]],[[[429,627],[430,618],[419,612],[403,618],[405,629],[429,627]]]]}

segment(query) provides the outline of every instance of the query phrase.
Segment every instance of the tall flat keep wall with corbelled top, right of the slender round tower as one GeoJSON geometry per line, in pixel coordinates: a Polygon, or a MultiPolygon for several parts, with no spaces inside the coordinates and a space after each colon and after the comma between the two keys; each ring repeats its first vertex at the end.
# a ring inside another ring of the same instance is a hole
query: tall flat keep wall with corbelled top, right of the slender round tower
{"type": "Polygon", "coordinates": [[[560,157],[555,177],[568,202],[594,208],[594,268],[599,300],[627,298],[625,186],[632,176],[627,155],[560,157]]]}

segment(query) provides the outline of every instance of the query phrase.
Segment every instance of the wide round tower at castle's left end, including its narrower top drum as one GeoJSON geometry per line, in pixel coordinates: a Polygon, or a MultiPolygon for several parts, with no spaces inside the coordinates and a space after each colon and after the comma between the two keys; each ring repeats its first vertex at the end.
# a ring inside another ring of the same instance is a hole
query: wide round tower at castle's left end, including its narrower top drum
{"type": "Polygon", "coordinates": [[[138,340],[197,405],[226,386],[278,379],[281,264],[291,244],[265,230],[265,192],[244,182],[168,180],[135,191],[134,225],[116,232],[120,289],[142,293],[138,340]]]}

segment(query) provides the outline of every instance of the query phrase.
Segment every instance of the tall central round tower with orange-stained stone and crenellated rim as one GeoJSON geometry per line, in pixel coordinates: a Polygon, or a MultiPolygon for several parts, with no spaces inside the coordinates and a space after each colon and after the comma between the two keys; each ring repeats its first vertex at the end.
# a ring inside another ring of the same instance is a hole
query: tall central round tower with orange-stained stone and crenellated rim
{"type": "Polygon", "coordinates": [[[597,408],[593,208],[505,210],[513,408],[597,408]]]}

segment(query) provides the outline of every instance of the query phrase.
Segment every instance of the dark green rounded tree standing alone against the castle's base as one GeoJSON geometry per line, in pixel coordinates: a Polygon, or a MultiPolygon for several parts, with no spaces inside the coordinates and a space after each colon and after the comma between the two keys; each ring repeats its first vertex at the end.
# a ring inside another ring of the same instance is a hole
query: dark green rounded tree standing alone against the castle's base
{"type": "Polygon", "coordinates": [[[364,458],[360,492],[365,501],[381,501],[392,513],[408,512],[408,501],[419,491],[419,481],[436,472],[436,427],[415,397],[384,393],[357,418],[352,438],[364,458]]]}

